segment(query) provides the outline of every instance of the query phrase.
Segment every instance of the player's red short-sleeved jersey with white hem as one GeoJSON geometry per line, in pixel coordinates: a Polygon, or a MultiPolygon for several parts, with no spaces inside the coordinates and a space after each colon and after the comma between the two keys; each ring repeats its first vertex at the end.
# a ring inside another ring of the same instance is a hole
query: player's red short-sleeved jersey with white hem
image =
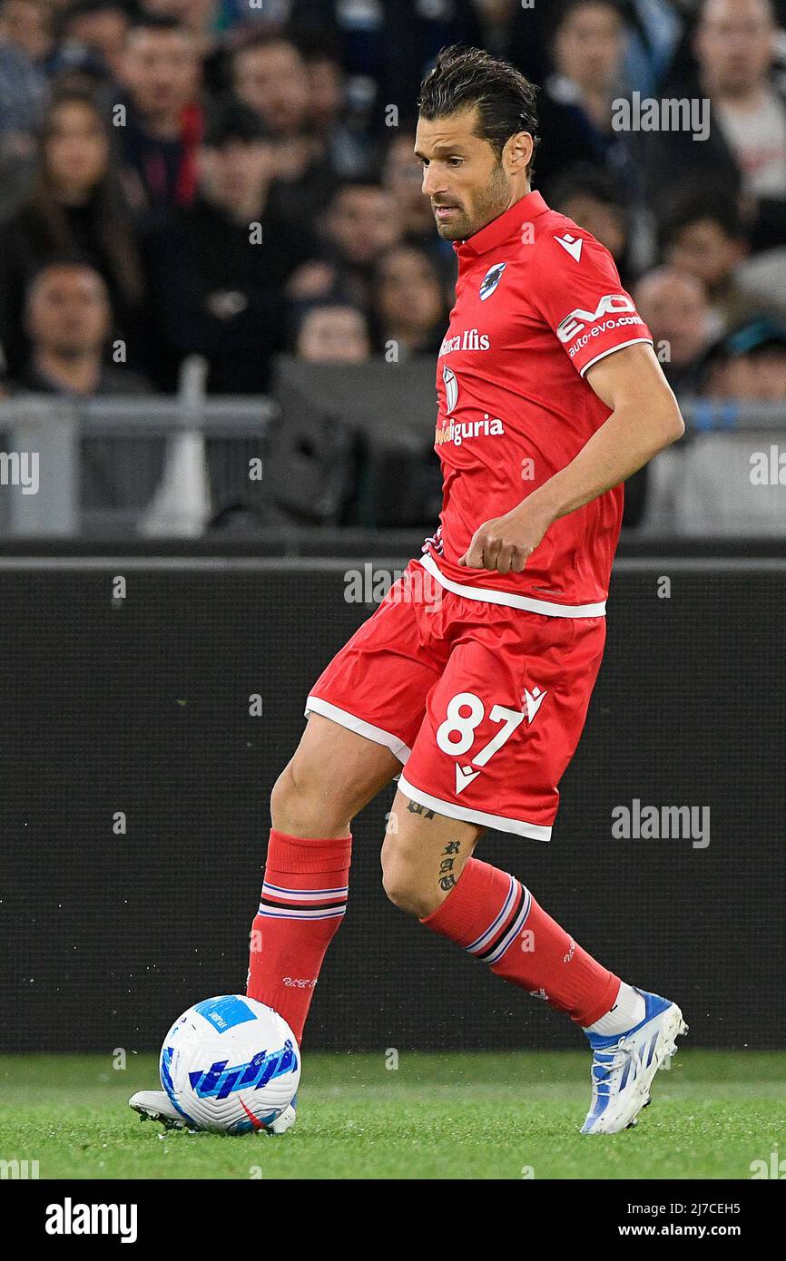
{"type": "Polygon", "coordinates": [[[597,617],[619,538],[622,484],[549,526],[521,574],[457,560],[478,526],[569,464],[608,419],[587,369],[652,335],[608,250],[537,192],[453,248],[455,305],[437,367],[443,508],[421,564],[457,594],[597,617]]]}

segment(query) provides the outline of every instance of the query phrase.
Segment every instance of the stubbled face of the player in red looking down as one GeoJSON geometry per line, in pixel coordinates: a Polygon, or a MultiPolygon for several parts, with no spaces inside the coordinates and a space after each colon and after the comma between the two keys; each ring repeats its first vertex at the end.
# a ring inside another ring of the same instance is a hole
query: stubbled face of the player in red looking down
{"type": "Polygon", "coordinates": [[[524,166],[515,161],[512,170],[506,169],[492,145],[476,135],[476,121],[474,108],[418,120],[415,156],[423,166],[423,192],[445,241],[479,232],[526,192],[524,166]]]}

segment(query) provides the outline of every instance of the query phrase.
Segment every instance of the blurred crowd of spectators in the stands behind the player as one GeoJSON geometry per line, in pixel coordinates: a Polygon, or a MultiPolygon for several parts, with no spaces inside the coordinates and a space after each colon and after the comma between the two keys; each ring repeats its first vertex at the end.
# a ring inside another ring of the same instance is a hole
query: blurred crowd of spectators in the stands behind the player
{"type": "Polygon", "coordinates": [[[786,401],[786,0],[3,0],[3,395],[434,356],[454,253],[414,129],[455,42],[539,84],[534,185],[612,252],[675,391],[786,401]],[[708,105],[621,125],[645,98],[708,105]]]}

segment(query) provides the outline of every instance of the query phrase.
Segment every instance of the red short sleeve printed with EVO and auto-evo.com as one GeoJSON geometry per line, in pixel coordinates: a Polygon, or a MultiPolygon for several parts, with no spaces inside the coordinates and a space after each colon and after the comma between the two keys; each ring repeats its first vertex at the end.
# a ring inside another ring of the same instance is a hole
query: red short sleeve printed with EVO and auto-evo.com
{"type": "Polygon", "coordinates": [[[537,241],[530,299],[580,376],[652,334],[608,250],[588,233],[549,228],[537,241]]]}

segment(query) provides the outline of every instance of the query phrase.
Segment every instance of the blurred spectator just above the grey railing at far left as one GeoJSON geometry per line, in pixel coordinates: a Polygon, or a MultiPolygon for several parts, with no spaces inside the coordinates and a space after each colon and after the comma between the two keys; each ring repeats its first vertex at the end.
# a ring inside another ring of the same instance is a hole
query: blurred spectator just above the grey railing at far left
{"type": "MultiPolygon", "coordinates": [[[[141,377],[105,362],[112,313],[106,285],[88,264],[44,267],[30,282],[25,319],[33,349],[15,382],[21,391],[72,400],[148,393],[141,377]]],[[[134,512],[159,483],[164,439],[83,438],[79,454],[82,508],[134,512]]]]}

